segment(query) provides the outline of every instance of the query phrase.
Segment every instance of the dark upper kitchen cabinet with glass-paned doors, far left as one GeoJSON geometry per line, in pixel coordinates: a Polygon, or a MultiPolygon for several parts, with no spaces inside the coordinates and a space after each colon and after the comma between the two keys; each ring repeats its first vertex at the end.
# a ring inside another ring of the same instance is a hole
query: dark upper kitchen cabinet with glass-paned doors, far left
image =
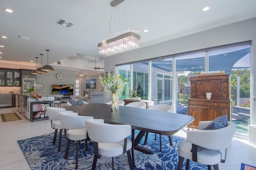
{"type": "Polygon", "coordinates": [[[20,86],[20,70],[0,68],[0,86],[20,86]]]}

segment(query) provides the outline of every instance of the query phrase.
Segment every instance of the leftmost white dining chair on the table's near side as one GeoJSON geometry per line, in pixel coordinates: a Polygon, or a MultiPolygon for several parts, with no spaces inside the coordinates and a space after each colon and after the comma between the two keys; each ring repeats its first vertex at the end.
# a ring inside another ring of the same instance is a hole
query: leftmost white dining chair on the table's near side
{"type": "Polygon", "coordinates": [[[58,115],[58,113],[60,111],[62,111],[62,112],[69,112],[71,114],[75,114],[75,113],[73,113],[73,111],[68,111],[65,108],[47,107],[47,114],[48,114],[48,117],[49,117],[49,119],[51,121],[51,127],[52,127],[52,129],[55,129],[52,145],[55,145],[58,129],[60,129],[59,143],[58,143],[58,152],[60,152],[62,129],[64,129],[62,127],[61,123],[60,123],[60,119],[59,119],[59,115],[58,115]]]}

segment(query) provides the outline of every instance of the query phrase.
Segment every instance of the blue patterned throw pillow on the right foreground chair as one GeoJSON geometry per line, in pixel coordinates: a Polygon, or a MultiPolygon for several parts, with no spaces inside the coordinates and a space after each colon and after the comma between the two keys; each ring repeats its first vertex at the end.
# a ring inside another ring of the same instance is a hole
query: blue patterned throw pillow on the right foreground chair
{"type": "Polygon", "coordinates": [[[220,129],[220,128],[223,128],[223,127],[227,127],[227,125],[228,125],[228,115],[223,115],[223,116],[217,117],[216,119],[211,121],[202,130],[220,129]]]}

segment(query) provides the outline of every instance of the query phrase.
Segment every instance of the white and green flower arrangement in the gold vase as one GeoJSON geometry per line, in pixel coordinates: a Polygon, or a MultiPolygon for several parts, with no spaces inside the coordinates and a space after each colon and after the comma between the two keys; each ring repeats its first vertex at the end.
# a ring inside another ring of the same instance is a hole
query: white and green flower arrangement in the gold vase
{"type": "Polygon", "coordinates": [[[118,73],[111,74],[108,72],[107,77],[99,76],[99,79],[100,84],[103,86],[108,98],[110,92],[121,95],[124,89],[124,85],[126,85],[126,79],[118,73]]]}

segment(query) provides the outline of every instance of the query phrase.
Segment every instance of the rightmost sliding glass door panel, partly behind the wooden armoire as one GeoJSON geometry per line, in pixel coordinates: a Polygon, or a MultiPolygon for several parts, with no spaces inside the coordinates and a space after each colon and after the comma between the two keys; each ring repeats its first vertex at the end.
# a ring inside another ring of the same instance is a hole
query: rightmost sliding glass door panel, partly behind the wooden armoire
{"type": "Polygon", "coordinates": [[[231,120],[236,134],[248,136],[250,125],[250,45],[209,51],[209,70],[230,74],[231,120]]]}

